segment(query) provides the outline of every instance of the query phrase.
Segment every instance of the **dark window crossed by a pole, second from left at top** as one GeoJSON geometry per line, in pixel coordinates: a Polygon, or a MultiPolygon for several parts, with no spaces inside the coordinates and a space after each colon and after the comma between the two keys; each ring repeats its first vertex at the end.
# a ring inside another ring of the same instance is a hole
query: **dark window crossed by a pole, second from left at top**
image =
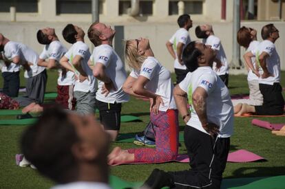
{"type": "MultiPolygon", "coordinates": [[[[91,0],[56,0],[56,14],[91,14],[91,0]]],[[[99,1],[99,14],[103,14],[103,1],[99,1]]]]}

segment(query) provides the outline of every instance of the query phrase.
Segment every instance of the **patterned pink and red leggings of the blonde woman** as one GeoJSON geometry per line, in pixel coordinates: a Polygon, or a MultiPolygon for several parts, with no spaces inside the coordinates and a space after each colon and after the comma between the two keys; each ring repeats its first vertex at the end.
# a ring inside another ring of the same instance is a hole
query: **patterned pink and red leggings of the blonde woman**
{"type": "Polygon", "coordinates": [[[178,111],[169,109],[151,113],[151,122],[156,125],[156,148],[132,148],[134,162],[166,162],[178,155],[178,111]]]}

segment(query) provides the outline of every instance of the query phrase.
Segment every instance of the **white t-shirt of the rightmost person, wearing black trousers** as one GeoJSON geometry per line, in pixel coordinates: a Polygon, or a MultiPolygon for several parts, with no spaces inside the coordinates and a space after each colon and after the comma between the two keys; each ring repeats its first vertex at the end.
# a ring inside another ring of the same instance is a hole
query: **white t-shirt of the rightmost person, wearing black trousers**
{"type": "Polygon", "coordinates": [[[269,73],[273,74],[274,76],[265,79],[260,78],[259,82],[266,85],[273,85],[274,82],[280,82],[280,58],[277,54],[274,43],[264,40],[252,51],[257,58],[260,54],[262,54],[262,52],[266,52],[269,55],[269,57],[266,58],[266,67],[269,73]]]}

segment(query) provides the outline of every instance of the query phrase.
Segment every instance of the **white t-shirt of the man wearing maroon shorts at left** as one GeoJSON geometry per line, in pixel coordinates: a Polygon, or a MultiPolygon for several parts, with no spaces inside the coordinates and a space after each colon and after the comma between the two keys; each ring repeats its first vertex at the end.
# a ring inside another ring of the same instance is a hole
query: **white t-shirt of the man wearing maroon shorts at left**
{"type": "MultiPolygon", "coordinates": [[[[59,63],[61,57],[67,52],[67,49],[63,46],[60,41],[52,41],[50,45],[45,45],[43,47],[43,52],[41,52],[39,58],[41,59],[54,59],[59,63]]],[[[67,71],[65,77],[62,75],[61,69],[59,69],[59,78],[57,79],[58,85],[72,85],[74,83],[74,73],[72,71],[67,71]]]]}

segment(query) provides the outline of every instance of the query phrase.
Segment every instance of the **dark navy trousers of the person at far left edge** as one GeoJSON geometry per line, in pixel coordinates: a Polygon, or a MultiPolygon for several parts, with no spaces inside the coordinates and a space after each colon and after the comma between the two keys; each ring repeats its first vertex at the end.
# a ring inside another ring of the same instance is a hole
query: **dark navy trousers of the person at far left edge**
{"type": "Polygon", "coordinates": [[[20,88],[20,71],[2,73],[3,76],[3,93],[10,97],[17,97],[20,88]]]}

